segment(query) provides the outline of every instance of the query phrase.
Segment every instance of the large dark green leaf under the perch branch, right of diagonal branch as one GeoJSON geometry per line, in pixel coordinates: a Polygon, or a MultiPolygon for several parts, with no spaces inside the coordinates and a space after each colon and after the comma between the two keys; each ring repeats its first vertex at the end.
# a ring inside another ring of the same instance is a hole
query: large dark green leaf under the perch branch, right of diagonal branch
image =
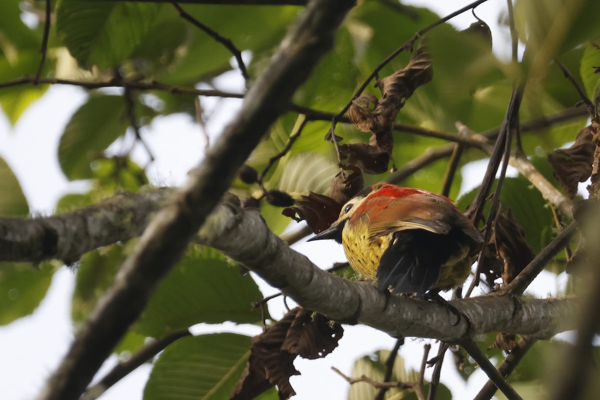
{"type": "Polygon", "coordinates": [[[260,309],[251,303],[262,297],[251,276],[241,275],[220,252],[190,248],[160,283],[133,329],[157,338],[198,323],[256,323],[260,309]]]}

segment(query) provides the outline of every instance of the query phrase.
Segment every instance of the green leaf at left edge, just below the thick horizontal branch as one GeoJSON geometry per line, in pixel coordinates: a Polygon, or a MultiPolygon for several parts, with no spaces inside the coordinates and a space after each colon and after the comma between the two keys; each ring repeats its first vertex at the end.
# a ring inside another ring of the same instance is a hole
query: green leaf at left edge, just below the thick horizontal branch
{"type": "Polygon", "coordinates": [[[29,315],[40,305],[52,282],[52,263],[0,263],[0,325],[29,315]]]}

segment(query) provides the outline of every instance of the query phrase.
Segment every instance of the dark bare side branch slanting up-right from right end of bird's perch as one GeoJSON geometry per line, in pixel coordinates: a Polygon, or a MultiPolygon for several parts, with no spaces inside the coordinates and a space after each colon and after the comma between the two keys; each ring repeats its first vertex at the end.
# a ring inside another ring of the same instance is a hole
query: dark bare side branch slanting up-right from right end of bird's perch
{"type": "Polygon", "coordinates": [[[554,239],[552,239],[552,241],[545,246],[526,267],[524,267],[511,283],[503,288],[502,293],[513,294],[516,296],[523,294],[525,289],[531,284],[533,279],[542,272],[546,264],[550,262],[554,255],[565,248],[576,230],[577,222],[573,221],[571,224],[567,225],[558,236],[554,237],[554,239]]]}

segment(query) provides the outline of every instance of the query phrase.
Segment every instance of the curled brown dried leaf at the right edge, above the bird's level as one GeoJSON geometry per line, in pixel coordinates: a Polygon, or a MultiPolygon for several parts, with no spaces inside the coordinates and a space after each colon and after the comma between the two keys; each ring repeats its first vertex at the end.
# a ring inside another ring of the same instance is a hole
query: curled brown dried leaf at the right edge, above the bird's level
{"type": "Polygon", "coordinates": [[[578,182],[585,182],[592,175],[593,156],[596,146],[592,142],[600,125],[592,123],[577,134],[575,143],[568,149],[558,149],[548,154],[554,178],[571,199],[577,195],[578,182]]]}

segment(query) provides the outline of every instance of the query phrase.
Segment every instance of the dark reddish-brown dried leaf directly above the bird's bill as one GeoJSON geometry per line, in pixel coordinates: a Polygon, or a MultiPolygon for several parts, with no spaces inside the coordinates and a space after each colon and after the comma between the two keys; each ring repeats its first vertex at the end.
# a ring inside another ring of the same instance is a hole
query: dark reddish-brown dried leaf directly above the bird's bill
{"type": "Polygon", "coordinates": [[[329,228],[338,218],[341,206],[331,197],[310,192],[308,196],[296,200],[295,206],[287,207],[281,213],[297,222],[306,221],[314,233],[319,233],[329,228]]]}

